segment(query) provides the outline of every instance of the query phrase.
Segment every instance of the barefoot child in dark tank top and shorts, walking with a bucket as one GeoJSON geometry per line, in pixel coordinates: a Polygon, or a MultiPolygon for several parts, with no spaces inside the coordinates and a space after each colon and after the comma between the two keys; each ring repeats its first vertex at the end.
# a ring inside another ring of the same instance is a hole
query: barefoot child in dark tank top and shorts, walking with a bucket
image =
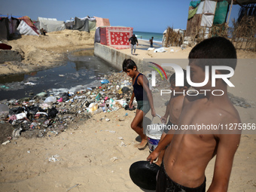
{"type": "Polygon", "coordinates": [[[137,147],[139,149],[145,149],[145,146],[148,144],[148,138],[143,133],[143,117],[145,117],[150,109],[152,116],[156,116],[152,93],[149,89],[148,79],[145,75],[139,73],[136,63],[132,59],[123,60],[123,72],[126,72],[128,76],[133,78],[133,94],[129,102],[129,107],[133,107],[134,97],[136,97],[138,107],[136,110],[136,116],[131,123],[131,127],[142,139],[142,142],[137,147]]]}

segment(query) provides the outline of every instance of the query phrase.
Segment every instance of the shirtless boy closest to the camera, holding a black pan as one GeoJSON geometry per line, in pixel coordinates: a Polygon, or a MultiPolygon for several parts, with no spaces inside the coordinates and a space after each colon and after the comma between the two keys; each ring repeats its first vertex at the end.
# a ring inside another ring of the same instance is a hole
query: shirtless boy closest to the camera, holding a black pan
{"type": "MultiPolygon", "coordinates": [[[[201,83],[205,79],[205,66],[230,66],[236,68],[236,49],[226,38],[214,37],[197,44],[189,54],[191,81],[201,83]],[[206,62],[201,62],[207,59],[206,62]],[[224,59],[223,64],[216,59],[224,59]],[[230,62],[230,60],[232,60],[230,62]]],[[[210,71],[211,72],[211,71],[210,71]]],[[[225,74],[216,70],[216,74],[225,74]]],[[[211,73],[209,75],[212,76],[211,73]]],[[[223,90],[222,96],[214,96],[211,91],[198,96],[185,96],[178,127],[196,124],[241,123],[236,108],[227,96],[227,84],[216,79],[196,90],[223,90]]],[[[157,191],[205,191],[205,170],[209,161],[216,155],[212,183],[208,191],[227,191],[233,157],[239,146],[241,131],[224,130],[179,130],[173,135],[172,142],[166,149],[163,163],[157,175],[157,191]]],[[[154,159],[148,159],[153,162],[154,159]]]]}

